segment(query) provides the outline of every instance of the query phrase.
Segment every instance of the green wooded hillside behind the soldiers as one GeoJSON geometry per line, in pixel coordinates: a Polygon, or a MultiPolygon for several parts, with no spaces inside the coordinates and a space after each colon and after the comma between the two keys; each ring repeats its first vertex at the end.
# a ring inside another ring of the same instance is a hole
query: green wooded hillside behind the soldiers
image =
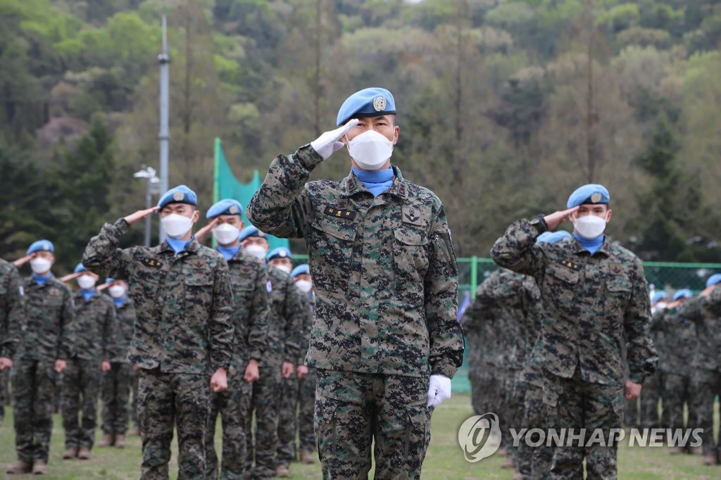
{"type": "MultiPolygon", "coordinates": [[[[594,182],[611,191],[607,234],[642,259],[720,261],[721,1],[707,0],[0,0],[1,257],[48,238],[68,270],[102,223],[143,208],[162,14],[169,184],[203,213],[213,138],[247,181],[382,86],[393,163],[441,197],[459,256],[594,182]]],[[[313,178],[349,170],[339,151],[313,178]]]]}

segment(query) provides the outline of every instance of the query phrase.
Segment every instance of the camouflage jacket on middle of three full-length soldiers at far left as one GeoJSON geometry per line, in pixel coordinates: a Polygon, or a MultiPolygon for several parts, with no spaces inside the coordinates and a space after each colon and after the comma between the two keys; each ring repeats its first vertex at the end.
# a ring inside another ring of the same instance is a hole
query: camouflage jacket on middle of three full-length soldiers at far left
{"type": "Polygon", "coordinates": [[[73,337],[73,352],[81,360],[110,362],[115,356],[115,305],[107,295],[96,290],[88,300],[83,294],[73,295],[75,321],[69,331],[73,337]]]}

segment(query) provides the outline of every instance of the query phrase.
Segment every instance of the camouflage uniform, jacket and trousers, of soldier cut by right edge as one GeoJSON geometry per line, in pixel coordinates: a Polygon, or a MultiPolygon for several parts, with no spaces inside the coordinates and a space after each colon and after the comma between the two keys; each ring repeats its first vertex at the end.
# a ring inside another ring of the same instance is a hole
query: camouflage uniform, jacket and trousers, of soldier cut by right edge
{"type": "MultiPolygon", "coordinates": [[[[704,455],[719,455],[714,437],[714,397],[721,395],[721,286],[707,297],[694,297],[678,308],[678,315],[696,324],[697,347],[694,360],[693,391],[696,392],[696,422],[694,427],[704,429],[701,435],[704,455]]],[[[690,419],[690,417],[689,417],[690,419]]]]}

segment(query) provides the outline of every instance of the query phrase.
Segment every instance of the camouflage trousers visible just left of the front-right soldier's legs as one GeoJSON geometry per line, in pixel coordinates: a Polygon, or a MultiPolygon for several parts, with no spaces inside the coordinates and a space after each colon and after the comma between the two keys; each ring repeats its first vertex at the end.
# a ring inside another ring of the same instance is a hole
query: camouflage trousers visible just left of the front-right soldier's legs
{"type": "MultiPolygon", "coordinates": [[[[523,396],[522,428],[547,430],[546,414],[543,403],[543,387],[532,383],[525,384],[523,396]]],[[[536,440],[536,439],[534,439],[536,440]]],[[[525,441],[518,444],[518,471],[529,480],[549,480],[551,478],[551,447],[531,448],[525,441]]]]}

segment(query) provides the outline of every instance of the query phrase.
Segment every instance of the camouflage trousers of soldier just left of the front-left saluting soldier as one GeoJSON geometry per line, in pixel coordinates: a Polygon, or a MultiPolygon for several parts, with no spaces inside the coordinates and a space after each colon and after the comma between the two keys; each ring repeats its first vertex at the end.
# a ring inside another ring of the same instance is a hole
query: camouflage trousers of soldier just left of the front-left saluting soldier
{"type": "Polygon", "coordinates": [[[113,362],[102,374],[102,431],[107,435],[125,435],[128,431],[128,399],[133,368],[125,362],[113,362]]]}

